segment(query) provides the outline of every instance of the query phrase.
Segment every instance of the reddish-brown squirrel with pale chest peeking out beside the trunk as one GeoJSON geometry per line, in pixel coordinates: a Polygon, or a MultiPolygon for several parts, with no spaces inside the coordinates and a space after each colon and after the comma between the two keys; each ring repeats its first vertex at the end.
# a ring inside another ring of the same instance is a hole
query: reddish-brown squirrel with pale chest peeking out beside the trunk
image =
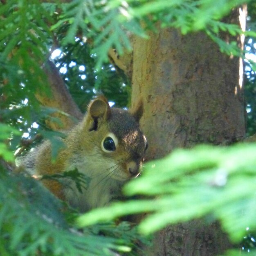
{"type": "Polygon", "coordinates": [[[110,108],[105,97],[92,100],[83,120],[63,139],[52,160],[52,145],[43,142],[21,159],[21,166],[34,176],[53,175],[77,169],[90,178],[83,193],[74,181],[67,186],[56,180],[43,184],[58,198],[81,212],[103,207],[121,195],[121,187],[141,172],[147,148],[146,137],[139,128],[143,103],[133,110],[110,108]]]}

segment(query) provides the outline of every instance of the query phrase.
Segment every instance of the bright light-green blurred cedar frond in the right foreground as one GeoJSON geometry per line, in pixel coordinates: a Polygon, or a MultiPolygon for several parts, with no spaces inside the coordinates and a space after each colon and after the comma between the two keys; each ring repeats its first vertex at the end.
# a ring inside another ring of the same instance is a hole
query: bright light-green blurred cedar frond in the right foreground
{"type": "Polygon", "coordinates": [[[139,231],[150,234],[170,224],[203,218],[206,223],[219,220],[230,239],[239,243],[256,232],[255,154],[256,144],[177,149],[147,163],[143,175],[124,187],[126,195],[143,195],[143,200],[95,209],[80,216],[77,223],[84,227],[148,212],[139,231]]]}

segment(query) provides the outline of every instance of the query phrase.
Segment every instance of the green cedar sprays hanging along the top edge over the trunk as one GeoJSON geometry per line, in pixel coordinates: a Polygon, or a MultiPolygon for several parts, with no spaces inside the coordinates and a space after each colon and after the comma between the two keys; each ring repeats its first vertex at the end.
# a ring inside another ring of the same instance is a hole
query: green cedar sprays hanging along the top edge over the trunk
{"type": "MultiPolygon", "coordinates": [[[[249,2],[249,1],[247,1],[249,2]]],[[[94,52],[97,55],[97,67],[108,59],[108,49],[113,47],[121,55],[124,49],[131,50],[129,34],[147,37],[146,30],[156,30],[156,22],[161,27],[175,27],[183,34],[204,30],[215,41],[222,52],[240,55],[235,42],[227,44],[220,39],[222,31],[232,36],[243,32],[234,24],[219,21],[230,10],[244,0],[150,0],[150,1],[91,1],[75,0],[62,5],[65,14],[52,26],[55,30],[63,24],[69,24],[63,44],[72,43],[78,31],[85,38],[93,40],[94,52]]],[[[253,31],[247,34],[255,36],[253,31]]]]}

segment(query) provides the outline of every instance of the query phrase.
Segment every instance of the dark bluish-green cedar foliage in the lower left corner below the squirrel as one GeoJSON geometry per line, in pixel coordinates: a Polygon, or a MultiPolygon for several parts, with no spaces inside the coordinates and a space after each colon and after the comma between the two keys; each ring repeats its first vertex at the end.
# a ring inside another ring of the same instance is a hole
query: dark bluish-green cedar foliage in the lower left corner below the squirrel
{"type": "Polygon", "coordinates": [[[2,256],[114,256],[141,243],[127,222],[78,229],[78,215],[31,177],[0,170],[0,254],[2,256]]]}

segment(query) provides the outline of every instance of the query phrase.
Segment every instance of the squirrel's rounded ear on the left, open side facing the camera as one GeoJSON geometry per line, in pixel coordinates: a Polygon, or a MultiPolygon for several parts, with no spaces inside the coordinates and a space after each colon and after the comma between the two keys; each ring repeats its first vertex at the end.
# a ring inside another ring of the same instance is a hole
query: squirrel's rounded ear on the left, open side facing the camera
{"type": "Polygon", "coordinates": [[[97,99],[94,99],[89,107],[88,112],[90,113],[93,119],[98,119],[102,117],[104,119],[108,119],[111,113],[110,106],[108,105],[108,101],[105,97],[100,96],[97,99]]]}

